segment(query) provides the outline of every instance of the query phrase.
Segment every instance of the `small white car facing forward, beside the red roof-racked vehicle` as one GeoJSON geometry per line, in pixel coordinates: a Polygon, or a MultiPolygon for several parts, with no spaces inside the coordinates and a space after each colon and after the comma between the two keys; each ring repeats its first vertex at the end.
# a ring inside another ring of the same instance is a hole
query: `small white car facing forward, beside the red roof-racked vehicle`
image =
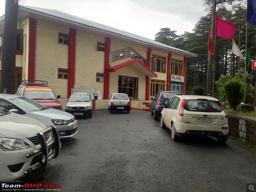
{"type": "Polygon", "coordinates": [[[89,116],[92,118],[92,98],[87,92],[75,92],[70,95],[66,112],[74,116],[89,116]]]}

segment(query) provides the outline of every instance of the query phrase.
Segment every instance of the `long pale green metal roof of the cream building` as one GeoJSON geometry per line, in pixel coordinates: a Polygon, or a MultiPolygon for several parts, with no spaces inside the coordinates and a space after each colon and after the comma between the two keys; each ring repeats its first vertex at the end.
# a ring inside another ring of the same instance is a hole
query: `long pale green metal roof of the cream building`
{"type": "Polygon", "coordinates": [[[25,6],[25,5],[21,5],[20,10],[24,10],[24,11],[27,11],[27,12],[36,11],[36,12],[43,13],[44,16],[46,14],[48,17],[53,16],[53,17],[56,17],[56,18],[61,18],[61,19],[64,19],[64,20],[68,20],[70,22],[75,22],[75,23],[78,23],[78,24],[82,24],[84,26],[90,26],[92,28],[100,29],[100,30],[105,31],[106,33],[115,33],[115,34],[118,34],[118,35],[121,35],[121,36],[124,36],[124,37],[133,38],[133,39],[136,39],[138,41],[142,41],[146,44],[151,44],[153,46],[155,45],[157,47],[160,46],[161,48],[164,48],[164,49],[169,49],[169,50],[172,50],[174,52],[176,51],[176,52],[186,54],[187,57],[196,57],[197,56],[197,54],[195,54],[195,53],[183,51],[181,49],[177,49],[175,47],[159,43],[157,41],[148,39],[146,37],[135,35],[135,34],[127,32],[127,31],[123,31],[123,30],[120,30],[120,29],[109,27],[109,26],[106,26],[106,25],[103,25],[103,24],[100,24],[100,23],[96,23],[96,22],[86,20],[86,19],[83,19],[83,18],[80,18],[80,17],[76,17],[74,15],[70,15],[68,13],[60,12],[60,11],[57,11],[57,10],[44,9],[44,8],[39,8],[39,7],[31,7],[31,6],[25,6]]]}

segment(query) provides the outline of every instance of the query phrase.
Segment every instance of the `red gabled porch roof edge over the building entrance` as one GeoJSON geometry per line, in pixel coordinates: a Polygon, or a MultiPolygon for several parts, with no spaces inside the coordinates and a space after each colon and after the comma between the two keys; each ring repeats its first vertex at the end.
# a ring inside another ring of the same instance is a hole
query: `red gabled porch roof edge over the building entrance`
{"type": "Polygon", "coordinates": [[[139,60],[131,60],[125,63],[122,63],[120,65],[116,65],[114,67],[110,67],[106,69],[107,73],[116,72],[116,70],[124,68],[128,65],[133,65],[135,68],[137,68],[139,71],[144,73],[149,78],[155,78],[157,77],[157,74],[155,74],[153,71],[151,71],[146,65],[143,65],[139,60]]]}

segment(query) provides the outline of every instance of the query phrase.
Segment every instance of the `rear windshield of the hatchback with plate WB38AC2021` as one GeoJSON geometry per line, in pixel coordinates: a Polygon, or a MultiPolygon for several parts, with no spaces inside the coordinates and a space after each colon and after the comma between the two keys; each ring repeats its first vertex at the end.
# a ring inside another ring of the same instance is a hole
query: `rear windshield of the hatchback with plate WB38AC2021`
{"type": "Polygon", "coordinates": [[[195,112],[222,112],[219,101],[185,100],[184,109],[195,112]]]}

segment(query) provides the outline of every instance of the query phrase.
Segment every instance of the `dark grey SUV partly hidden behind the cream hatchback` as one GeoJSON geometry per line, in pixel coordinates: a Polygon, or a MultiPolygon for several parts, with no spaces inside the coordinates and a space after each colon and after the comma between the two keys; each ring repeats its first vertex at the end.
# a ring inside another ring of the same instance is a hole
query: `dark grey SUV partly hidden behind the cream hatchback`
{"type": "Polygon", "coordinates": [[[162,91],[156,93],[156,97],[151,102],[151,115],[154,115],[154,120],[158,119],[158,116],[161,115],[161,111],[163,110],[161,108],[162,104],[165,104],[165,102],[168,102],[174,95],[183,95],[182,92],[177,91],[162,91]]]}

